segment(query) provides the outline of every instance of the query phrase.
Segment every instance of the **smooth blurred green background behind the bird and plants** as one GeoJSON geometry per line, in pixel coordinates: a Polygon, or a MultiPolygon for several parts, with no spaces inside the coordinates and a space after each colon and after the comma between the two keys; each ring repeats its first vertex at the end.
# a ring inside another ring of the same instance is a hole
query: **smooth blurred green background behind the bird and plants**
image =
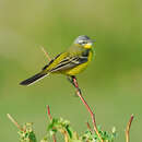
{"type": "Polygon", "coordinates": [[[46,105],[79,133],[86,130],[91,117],[66,76],[19,85],[48,63],[40,46],[54,57],[79,35],[96,36],[96,57],[78,79],[97,125],[108,131],[115,126],[116,142],[125,142],[125,128],[134,114],[131,141],[142,141],[141,4],[140,0],[0,0],[0,141],[19,141],[8,113],[19,123],[34,122],[39,141],[48,121],[46,105]]]}

